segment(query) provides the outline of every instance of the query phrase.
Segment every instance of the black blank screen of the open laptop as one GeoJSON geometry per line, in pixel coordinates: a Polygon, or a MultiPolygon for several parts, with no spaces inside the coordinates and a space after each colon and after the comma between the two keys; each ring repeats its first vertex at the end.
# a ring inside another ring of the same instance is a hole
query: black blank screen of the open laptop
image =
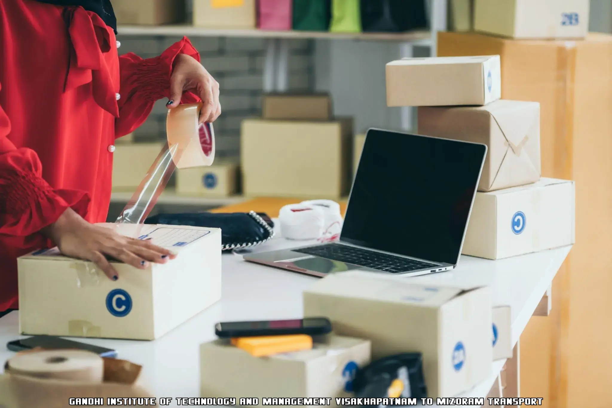
{"type": "Polygon", "coordinates": [[[368,131],[341,241],[457,264],[482,144],[368,131]]]}

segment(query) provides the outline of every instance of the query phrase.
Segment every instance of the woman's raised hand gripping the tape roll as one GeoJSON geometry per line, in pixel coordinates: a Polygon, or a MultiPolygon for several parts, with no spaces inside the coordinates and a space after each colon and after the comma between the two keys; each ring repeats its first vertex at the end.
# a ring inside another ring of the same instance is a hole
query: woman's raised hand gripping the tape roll
{"type": "Polygon", "coordinates": [[[168,109],[179,106],[183,92],[187,91],[193,92],[202,100],[200,123],[214,122],[219,117],[219,83],[196,59],[187,54],[179,54],[174,59],[170,76],[170,100],[166,103],[168,109]]]}

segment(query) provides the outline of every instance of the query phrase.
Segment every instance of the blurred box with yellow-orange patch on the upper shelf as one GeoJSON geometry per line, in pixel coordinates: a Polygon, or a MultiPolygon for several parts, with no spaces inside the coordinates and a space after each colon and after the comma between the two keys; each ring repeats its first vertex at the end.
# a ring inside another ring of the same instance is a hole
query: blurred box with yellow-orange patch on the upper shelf
{"type": "Polygon", "coordinates": [[[255,29],[255,0],[193,0],[193,25],[205,28],[255,29]]]}

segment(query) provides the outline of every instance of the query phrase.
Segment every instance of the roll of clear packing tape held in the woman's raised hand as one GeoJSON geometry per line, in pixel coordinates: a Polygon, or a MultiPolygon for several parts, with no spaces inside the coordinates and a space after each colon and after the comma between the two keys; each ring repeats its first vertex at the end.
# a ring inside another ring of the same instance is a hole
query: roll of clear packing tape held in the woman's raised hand
{"type": "Polygon", "coordinates": [[[202,103],[187,103],[168,111],[166,134],[174,164],[179,169],[210,166],[215,160],[215,132],[212,124],[198,123],[202,103]]]}

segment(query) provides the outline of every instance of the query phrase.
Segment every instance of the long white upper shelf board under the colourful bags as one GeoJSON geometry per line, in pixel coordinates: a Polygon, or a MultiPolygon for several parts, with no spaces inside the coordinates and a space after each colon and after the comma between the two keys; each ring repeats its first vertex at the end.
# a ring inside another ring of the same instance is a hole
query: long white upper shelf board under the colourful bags
{"type": "Polygon", "coordinates": [[[193,37],[258,37],[271,39],[343,39],[397,42],[419,42],[426,45],[431,31],[410,32],[319,32],[267,31],[257,29],[210,29],[188,25],[174,26],[119,26],[119,35],[190,35],[193,37]]]}

